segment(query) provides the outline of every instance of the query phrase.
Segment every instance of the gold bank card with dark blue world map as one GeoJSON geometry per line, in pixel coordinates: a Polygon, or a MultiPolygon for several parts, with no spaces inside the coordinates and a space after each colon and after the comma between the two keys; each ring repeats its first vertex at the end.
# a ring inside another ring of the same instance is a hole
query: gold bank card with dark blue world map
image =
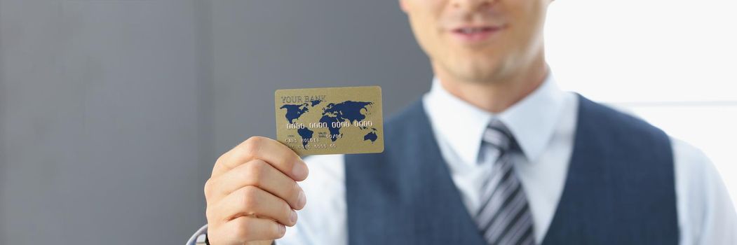
{"type": "Polygon", "coordinates": [[[276,140],[298,155],[384,151],[379,86],[282,89],[274,97],[276,140]]]}

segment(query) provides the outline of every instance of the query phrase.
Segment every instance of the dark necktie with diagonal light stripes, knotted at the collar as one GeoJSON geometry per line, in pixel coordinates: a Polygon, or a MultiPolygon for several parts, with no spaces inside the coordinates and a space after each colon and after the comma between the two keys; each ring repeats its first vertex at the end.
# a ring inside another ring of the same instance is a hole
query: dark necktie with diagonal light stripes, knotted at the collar
{"type": "Polygon", "coordinates": [[[483,147],[498,152],[481,188],[481,206],[475,216],[488,244],[534,244],[527,197],[514,173],[511,152],[518,149],[514,146],[514,137],[500,121],[492,122],[483,133],[483,147]]]}

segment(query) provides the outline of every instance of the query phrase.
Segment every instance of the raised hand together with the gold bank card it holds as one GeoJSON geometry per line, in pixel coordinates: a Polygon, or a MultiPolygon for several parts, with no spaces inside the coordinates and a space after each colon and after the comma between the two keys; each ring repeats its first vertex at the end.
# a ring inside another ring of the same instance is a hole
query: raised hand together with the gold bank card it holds
{"type": "Polygon", "coordinates": [[[205,184],[214,244],[270,244],[307,203],[297,182],[309,174],[298,155],[384,150],[381,88],[276,91],[277,140],[251,137],[226,152],[205,184]]]}

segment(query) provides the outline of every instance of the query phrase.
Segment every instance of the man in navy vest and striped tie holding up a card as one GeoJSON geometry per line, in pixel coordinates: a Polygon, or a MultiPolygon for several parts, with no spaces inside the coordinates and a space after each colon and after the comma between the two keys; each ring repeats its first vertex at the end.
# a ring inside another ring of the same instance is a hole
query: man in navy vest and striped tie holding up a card
{"type": "Polygon", "coordinates": [[[189,243],[737,244],[701,152],[556,88],[550,2],[400,0],[436,79],[385,124],[385,152],[306,164],[249,138],[215,163],[189,243]]]}

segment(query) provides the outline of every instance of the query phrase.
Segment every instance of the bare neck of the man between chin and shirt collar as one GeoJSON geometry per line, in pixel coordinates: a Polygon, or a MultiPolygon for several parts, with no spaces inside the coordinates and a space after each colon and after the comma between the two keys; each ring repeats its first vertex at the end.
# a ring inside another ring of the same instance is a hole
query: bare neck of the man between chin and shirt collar
{"type": "Polygon", "coordinates": [[[449,76],[433,65],[445,90],[454,96],[491,113],[500,113],[524,99],[548,76],[548,65],[539,57],[528,68],[514,75],[490,81],[466,81],[449,76]]]}

